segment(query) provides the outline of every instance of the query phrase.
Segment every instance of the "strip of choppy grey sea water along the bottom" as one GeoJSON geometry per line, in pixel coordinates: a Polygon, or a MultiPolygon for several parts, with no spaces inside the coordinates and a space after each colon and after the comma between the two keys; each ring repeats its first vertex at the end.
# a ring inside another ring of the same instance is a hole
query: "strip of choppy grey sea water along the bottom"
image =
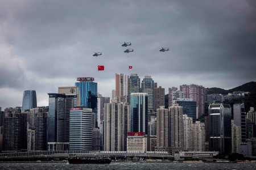
{"type": "Polygon", "coordinates": [[[256,169],[256,164],[238,163],[139,163],[112,162],[110,164],[68,164],[68,163],[1,163],[0,169],[256,169]]]}

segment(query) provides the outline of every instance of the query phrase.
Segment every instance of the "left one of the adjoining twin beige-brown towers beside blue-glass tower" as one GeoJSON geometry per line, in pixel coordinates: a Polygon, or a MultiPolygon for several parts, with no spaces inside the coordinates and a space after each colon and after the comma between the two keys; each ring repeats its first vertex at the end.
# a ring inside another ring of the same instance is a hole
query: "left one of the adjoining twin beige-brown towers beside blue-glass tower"
{"type": "Polygon", "coordinates": [[[170,147],[170,115],[169,110],[160,106],[156,109],[156,147],[168,150],[170,147]]]}

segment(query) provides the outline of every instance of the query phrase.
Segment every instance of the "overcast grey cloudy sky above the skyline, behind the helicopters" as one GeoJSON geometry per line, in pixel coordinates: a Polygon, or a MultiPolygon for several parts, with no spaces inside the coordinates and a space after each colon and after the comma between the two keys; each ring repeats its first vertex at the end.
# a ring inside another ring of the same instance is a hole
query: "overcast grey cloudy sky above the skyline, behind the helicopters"
{"type": "Polygon", "coordinates": [[[38,106],[46,106],[48,93],[84,76],[109,97],[115,73],[151,75],[166,94],[181,84],[230,89],[256,80],[254,0],[0,4],[2,111],[22,106],[24,90],[35,90],[38,106]],[[134,52],[124,53],[123,41],[134,52]]]}

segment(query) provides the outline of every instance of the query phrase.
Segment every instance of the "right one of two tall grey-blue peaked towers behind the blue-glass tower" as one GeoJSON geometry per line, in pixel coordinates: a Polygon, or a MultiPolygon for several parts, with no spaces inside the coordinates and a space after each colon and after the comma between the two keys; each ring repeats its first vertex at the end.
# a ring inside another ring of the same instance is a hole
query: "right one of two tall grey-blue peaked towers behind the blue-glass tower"
{"type": "Polygon", "coordinates": [[[144,76],[141,82],[142,93],[147,93],[148,95],[148,111],[154,110],[154,80],[151,76],[144,76]]]}

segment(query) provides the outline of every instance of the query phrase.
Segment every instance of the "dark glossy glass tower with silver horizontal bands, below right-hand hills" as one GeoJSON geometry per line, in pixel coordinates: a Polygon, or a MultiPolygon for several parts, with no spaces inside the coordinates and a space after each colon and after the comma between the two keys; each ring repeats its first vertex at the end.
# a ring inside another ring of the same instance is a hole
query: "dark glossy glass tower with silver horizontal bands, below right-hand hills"
{"type": "Polygon", "coordinates": [[[231,107],[229,104],[210,104],[208,108],[209,150],[230,154],[231,107]]]}

